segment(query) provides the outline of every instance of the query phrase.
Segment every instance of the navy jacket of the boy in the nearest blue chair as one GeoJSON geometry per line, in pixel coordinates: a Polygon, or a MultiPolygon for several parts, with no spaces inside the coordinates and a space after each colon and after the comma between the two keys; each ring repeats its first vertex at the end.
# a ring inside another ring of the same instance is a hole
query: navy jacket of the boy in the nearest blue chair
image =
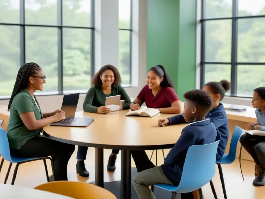
{"type": "Polygon", "coordinates": [[[178,186],[188,148],[192,145],[213,143],[216,135],[216,128],[210,119],[189,123],[188,126],[183,128],[175,146],[167,154],[164,165],[161,165],[167,179],[178,186]]]}

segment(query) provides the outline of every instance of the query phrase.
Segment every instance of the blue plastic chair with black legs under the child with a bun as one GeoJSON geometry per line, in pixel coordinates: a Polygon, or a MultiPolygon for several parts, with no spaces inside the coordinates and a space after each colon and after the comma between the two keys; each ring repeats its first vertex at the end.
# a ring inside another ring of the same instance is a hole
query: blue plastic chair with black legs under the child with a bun
{"type": "MultiPolygon", "coordinates": [[[[235,161],[236,159],[236,147],[237,147],[237,143],[238,140],[240,138],[240,136],[242,135],[242,133],[245,133],[245,130],[235,126],[234,131],[233,131],[233,135],[232,135],[232,139],[231,139],[231,143],[230,143],[230,148],[229,148],[229,153],[225,153],[223,155],[223,157],[219,160],[216,160],[216,163],[218,165],[218,169],[219,169],[219,174],[220,174],[220,179],[221,179],[221,183],[222,183],[222,188],[223,188],[223,193],[224,193],[224,199],[227,199],[227,195],[226,195],[226,187],[224,185],[224,176],[223,176],[223,171],[222,171],[222,167],[221,164],[231,164],[235,161]]],[[[214,185],[213,185],[213,181],[210,181],[211,184],[211,188],[214,194],[214,198],[217,198],[215,189],[214,189],[214,185]]]]}

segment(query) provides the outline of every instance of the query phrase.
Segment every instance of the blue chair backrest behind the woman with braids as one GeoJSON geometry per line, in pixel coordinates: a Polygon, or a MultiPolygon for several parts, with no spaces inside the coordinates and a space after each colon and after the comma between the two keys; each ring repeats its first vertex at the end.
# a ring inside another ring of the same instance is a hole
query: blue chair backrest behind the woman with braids
{"type": "Polygon", "coordinates": [[[0,154],[7,161],[13,162],[10,155],[10,148],[9,148],[6,131],[1,127],[0,127],[0,154]]]}

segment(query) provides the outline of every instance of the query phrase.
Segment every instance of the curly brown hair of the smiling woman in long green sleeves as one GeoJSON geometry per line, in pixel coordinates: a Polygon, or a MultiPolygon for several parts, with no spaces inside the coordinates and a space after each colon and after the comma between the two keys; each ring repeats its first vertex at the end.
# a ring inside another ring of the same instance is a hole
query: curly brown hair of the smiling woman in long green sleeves
{"type": "Polygon", "coordinates": [[[100,76],[106,71],[111,70],[114,73],[114,82],[111,86],[117,87],[119,84],[121,84],[121,76],[118,71],[118,69],[115,66],[112,66],[111,64],[107,64],[100,68],[100,70],[94,75],[91,84],[100,86],[102,85],[102,81],[100,79],[100,76]]]}

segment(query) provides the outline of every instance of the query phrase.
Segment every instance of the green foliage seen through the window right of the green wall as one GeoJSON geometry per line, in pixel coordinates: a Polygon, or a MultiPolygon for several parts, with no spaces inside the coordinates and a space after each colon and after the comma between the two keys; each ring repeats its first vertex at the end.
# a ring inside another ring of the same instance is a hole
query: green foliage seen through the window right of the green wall
{"type": "MultiPolygon", "coordinates": [[[[239,0],[240,1],[240,0],[239,0]]],[[[232,17],[232,1],[206,0],[205,17],[232,17]]],[[[257,15],[264,15],[260,8],[257,15]]],[[[239,16],[250,16],[249,12],[238,11],[239,16]]],[[[211,20],[205,22],[206,62],[231,62],[232,20],[211,20]]],[[[265,18],[238,19],[237,62],[258,62],[264,65],[237,66],[237,94],[251,95],[253,89],[265,84],[265,18]]],[[[205,83],[231,79],[231,65],[206,64],[205,83]]]]}

